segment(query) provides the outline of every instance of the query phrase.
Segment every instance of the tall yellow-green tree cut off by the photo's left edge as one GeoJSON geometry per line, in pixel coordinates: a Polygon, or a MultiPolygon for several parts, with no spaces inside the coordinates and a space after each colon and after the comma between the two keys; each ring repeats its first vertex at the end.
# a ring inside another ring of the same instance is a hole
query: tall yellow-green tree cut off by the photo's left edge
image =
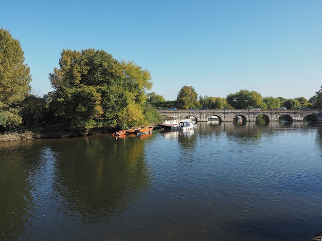
{"type": "Polygon", "coordinates": [[[0,29],[0,125],[12,128],[22,123],[17,103],[30,91],[30,69],[24,64],[24,52],[9,31],[0,29]]]}

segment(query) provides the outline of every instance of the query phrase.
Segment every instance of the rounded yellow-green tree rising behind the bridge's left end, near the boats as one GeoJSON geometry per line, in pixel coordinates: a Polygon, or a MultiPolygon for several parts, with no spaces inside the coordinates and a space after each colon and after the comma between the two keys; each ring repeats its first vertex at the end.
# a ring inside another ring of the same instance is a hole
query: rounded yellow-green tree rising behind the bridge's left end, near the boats
{"type": "Polygon", "coordinates": [[[180,109],[196,108],[198,106],[198,94],[196,94],[194,87],[184,86],[178,92],[177,101],[180,109]]]}

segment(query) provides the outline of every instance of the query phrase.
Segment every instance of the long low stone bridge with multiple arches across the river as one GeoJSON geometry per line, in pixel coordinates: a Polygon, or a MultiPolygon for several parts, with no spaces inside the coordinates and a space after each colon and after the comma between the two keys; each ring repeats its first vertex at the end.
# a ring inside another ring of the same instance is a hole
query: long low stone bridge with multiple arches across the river
{"type": "Polygon", "coordinates": [[[319,110],[310,109],[160,109],[162,116],[177,116],[178,119],[193,116],[197,122],[208,121],[209,116],[217,116],[219,121],[232,121],[237,115],[241,115],[243,121],[256,121],[256,118],[263,115],[266,120],[278,121],[284,117],[289,121],[303,121],[305,117],[314,119],[319,110]]]}

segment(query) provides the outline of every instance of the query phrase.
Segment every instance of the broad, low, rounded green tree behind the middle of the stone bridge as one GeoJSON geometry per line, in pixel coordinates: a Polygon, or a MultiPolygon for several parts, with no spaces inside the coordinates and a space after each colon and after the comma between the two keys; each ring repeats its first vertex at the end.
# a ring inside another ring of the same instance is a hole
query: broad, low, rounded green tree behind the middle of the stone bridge
{"type": "Polygon", "coordinates": [[[249,91],[247,89],[240,90],[235,94],[229,94],[226,99],[228,104],[235,109],[262,106],[262,96],[256,91],[249,91]]]}

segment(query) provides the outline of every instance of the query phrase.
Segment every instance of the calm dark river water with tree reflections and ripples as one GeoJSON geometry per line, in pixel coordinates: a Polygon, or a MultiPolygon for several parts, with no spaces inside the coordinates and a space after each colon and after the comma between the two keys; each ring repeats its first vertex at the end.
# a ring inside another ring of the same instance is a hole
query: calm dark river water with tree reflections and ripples
{"type": "Polygon", "coordinates": [[[322,124],[0,143],[1,240],[307,240],[322,124]]]}

